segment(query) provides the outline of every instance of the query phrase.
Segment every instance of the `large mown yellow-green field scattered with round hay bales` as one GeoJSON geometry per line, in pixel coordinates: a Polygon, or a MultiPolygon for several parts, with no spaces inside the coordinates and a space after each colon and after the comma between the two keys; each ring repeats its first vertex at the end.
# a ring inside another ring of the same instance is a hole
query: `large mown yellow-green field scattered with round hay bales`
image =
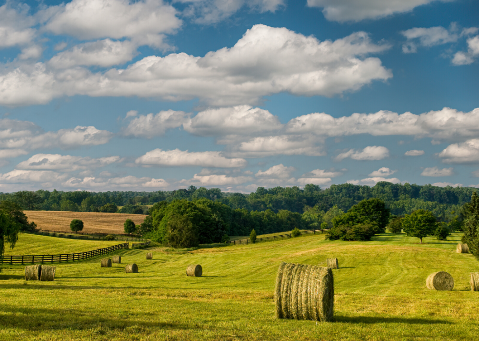
{"type": "Polygon", "coordinates": [[[5,264],[0,340],[477,340],[479,292],[468,281],[479,262],[455,252],[459,239],[308,235],[190,252],[122,250],[111,268],[100,267],[102,257],[59,264],[54,282],[24,281],[23,266],[5,264]],[[340,266],[335,321],[277,320],[280,262],[326,265],[332,257],[340,266]],[[131,262],[138,274],[125,274],[131,262]],[[186,277],[188,264],[201,264],[203,277],[186,277]],[[453,291],[426,289],[440,270],[453,276],[453,291]]]}

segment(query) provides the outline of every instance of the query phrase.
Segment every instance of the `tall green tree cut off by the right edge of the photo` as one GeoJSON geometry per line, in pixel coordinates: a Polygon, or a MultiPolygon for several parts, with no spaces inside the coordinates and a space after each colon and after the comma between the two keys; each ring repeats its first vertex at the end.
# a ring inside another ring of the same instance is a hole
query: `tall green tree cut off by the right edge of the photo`
{"type": "Polygon", "coordinates": [[[479,259],[479,196],[473,192],[471,201],[463,207],[464,222],[462,242],[466,243],[469,251],[479,259]]]}

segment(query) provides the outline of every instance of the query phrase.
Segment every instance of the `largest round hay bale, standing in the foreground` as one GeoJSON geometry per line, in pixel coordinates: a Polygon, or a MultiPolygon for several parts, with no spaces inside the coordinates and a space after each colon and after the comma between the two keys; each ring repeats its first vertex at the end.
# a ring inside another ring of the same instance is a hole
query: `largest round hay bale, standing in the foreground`
{"type": "Polygon", "coordinates": [[[279,319],[330,321],[334,307],[331,268],[282,262],[274,300],[279,319]]]}

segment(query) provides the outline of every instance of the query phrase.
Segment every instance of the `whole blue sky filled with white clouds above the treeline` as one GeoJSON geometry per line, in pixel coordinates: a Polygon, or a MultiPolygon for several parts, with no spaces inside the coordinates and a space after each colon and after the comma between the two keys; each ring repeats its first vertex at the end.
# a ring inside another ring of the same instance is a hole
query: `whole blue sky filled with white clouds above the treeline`
{"type": "Polygon", "coordinates": [[[479,186],[476,0],[0,7],[0,192],[479,186]]]}

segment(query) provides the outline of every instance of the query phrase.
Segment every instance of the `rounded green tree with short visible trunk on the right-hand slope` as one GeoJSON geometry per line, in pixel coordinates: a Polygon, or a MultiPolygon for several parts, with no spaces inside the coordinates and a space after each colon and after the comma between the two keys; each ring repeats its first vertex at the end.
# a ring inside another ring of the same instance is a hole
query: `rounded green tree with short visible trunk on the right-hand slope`
{"type": "Polygon", "coordinates": [[[434,214],[426,210],[417,210],[401,219],[402,229],[410,237],[417,237],[421,241],[427,236],[434,235],[438,222],[434,214]]]}

